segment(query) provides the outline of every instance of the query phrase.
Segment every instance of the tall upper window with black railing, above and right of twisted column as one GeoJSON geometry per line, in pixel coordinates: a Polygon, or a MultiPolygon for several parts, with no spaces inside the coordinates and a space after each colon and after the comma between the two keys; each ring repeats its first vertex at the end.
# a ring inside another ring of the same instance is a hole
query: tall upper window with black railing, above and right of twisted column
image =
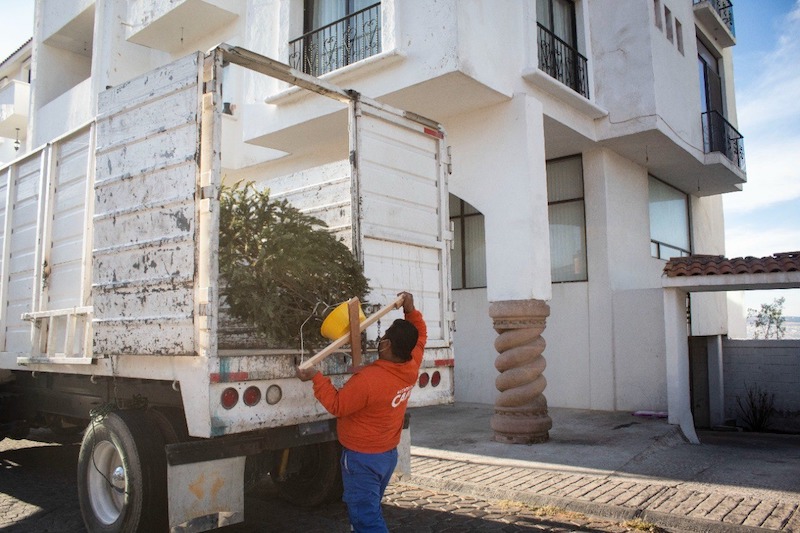
{"type": "Polygon", "coordinates": [[[572,0],[538,0],[539,69],[589,98],[588,62],[578,52],[572,0]]]}

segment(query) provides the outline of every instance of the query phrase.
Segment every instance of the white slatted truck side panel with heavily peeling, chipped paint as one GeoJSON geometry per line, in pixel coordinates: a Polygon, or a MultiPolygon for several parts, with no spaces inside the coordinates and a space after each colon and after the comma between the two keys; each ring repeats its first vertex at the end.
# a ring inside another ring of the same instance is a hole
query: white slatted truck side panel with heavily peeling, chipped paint
{"type": "Polygon", "coordinates": [[[95,355],[196,353],[200,57],[100,98],[95,355]]]}

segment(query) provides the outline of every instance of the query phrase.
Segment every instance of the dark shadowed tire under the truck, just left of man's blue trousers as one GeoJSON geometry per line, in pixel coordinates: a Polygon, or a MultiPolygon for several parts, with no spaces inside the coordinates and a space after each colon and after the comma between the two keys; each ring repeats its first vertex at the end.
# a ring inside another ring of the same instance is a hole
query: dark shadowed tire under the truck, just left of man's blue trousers
{"type": "Polygon", "coordinates": [[[278,495],[300,507],[317,507],[341,500],[341,455],[342,447],[336,441],[291,448],[289,461],[281,476],[283,450],[277,450],[270,476],[278,495]]]}

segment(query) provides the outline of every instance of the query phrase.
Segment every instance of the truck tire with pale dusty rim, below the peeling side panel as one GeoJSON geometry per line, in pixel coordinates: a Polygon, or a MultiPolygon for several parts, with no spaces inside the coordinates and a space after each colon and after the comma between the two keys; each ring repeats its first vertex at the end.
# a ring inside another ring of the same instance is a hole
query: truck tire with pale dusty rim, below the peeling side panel
{"type": "Polygon", "coordinates": [[[164,438],[144,411],[115,411],[89,423],[78,454],[78,499],[86,529],[166,531],[164,438]]]}

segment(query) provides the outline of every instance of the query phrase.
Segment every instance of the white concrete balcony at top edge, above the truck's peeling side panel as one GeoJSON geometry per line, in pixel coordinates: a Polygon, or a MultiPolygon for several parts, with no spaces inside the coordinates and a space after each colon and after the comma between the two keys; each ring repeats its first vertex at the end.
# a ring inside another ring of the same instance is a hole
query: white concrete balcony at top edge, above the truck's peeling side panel
{"type": "Polygon", "coordinates": [[[128,4],[128,41],[176,52],[230,24],[242,0],[134,0],[128,4]]]}

